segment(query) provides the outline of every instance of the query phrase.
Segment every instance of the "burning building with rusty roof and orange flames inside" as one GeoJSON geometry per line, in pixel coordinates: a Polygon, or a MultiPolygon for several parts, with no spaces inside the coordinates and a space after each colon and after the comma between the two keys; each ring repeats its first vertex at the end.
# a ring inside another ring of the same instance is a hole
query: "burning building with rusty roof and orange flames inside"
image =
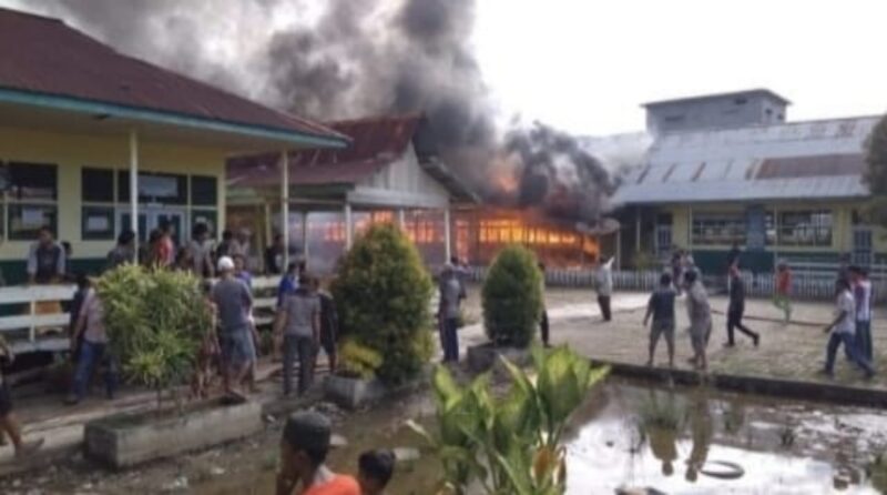
{"type": "MultiPolygon", "coordinates": [[[[511,243],[551,266],[579,267],[598,257],[602,231],[581,218],[589,199],[570,191],[557,170],[491,166],[502,182],[480,196],[441,163],[424,125],[420,115],[334,122],[332,129],[351,138],[347,149],[289,153],[293,255],[329,272],[356,235],[388,222],[404,229],[429,264],[455,254],[485,265],[511,243]]],[[[541,163],[538,152],[536,160],[541,163]]],[[[281,231],[279,170],[277,154],[228,162],[228,228],[256,233],[262,245],[281,231]]]]}

